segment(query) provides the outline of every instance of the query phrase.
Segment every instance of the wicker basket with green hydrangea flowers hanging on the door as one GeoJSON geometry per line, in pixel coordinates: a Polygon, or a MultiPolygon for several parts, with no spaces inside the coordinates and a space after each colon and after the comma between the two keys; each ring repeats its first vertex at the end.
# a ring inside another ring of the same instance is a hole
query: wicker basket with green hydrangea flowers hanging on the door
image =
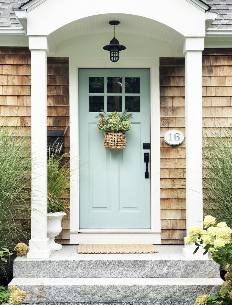
{"type": "MultiPolygon", "coordinates": [[[[101,109],[103,113],[104,110],[101,109]]],[[[103,144],[106,149],[125,149],[127,144],[127,139],[125,132],[130,130],[131,123],[128,118],[132,118],[130,114],[127,113],[127,109],[123,111],[122,114],[117,111],[111,112],[105,115],[99,113],[100,119],[97,122],[97,127],[100,131],[105,131],[103,144]]]]}

